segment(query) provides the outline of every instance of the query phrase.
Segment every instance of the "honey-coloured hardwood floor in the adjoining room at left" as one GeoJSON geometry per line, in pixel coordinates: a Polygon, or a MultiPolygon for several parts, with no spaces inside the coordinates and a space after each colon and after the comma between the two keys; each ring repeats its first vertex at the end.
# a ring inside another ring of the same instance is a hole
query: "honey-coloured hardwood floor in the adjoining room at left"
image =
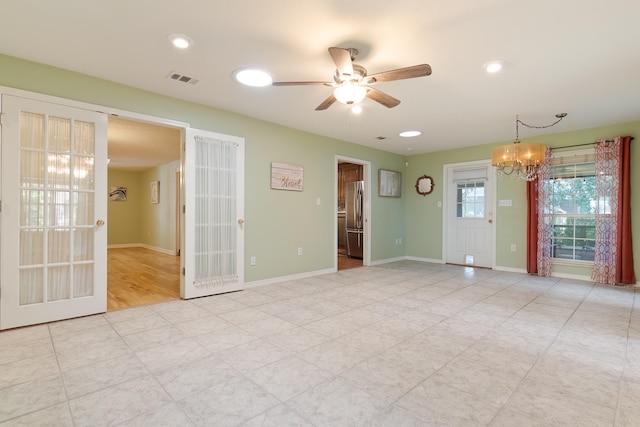
{"type": "Polygon", "coordinates": [[[145,248],[109,249],[107,311],[180,298],[180,257],[145,248]]]}

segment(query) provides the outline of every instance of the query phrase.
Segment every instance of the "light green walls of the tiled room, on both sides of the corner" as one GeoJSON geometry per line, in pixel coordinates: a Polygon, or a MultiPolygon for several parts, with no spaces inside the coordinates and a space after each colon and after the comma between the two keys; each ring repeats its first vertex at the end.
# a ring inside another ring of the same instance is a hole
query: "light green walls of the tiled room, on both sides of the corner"
{"type": "MultiPolygon", "coordinates": [[[[404,256],[441,260],[442,209],[437,202],[443,200],[443,165],[488,159],[492,147],[512,142],[487,141],[485,145],[404,157],[9,56],[0,55],[0,70],[2,86],[182,121],[197,129],[243,137],[247,282],[334,267],[337,155],[371,162],[372,262],[404,256]],[[303,166],[304,191],[271,190],[272,161],[303,166]],[[401,198],[377,196],[380,168],[402,171],[401,198]],[[435,181],[433,193],[426,197],[418,195],[414,188],[415,180],[423,174],[435,181]],[[320,205],[316,204],[316,198],[321,199],[320,205]],[[396,245],[396,238],[402,238],[403,244],[396,245]],[[297,256],[298,247],[303,248],[303,256],[297,256]],[[252,256],[257,259],[256,266],[249,266],[252,256]]],[[[558,147],[617,135],[640,135],[640,121],[557,133],[536,140],[558,147]]],[[[634,149],[632,156],[635,165],[632,182],[637,182],[640,151],[634,149]]],[[[148,182],[143,184],[140,191],[146,192],[148,182]]],[[[497,183],[496,200],[513,201],[512,207],[496,208],[496,265],[500,268],[525,268],[524,188],[523,182],[497,183]],[[519,248],[517,252],[510,251],[512,243],[519,248]]],[[[640,230],[639,192],[640,186],[632,189],[636,232],[640,230]]],[[[636,270],[640,272],[640,236],[635,239],[634,252],[638,254],[636,270]]],[[[584,269],[566,266],[555,267],[555,271],[589,275],[584,269]]]]}

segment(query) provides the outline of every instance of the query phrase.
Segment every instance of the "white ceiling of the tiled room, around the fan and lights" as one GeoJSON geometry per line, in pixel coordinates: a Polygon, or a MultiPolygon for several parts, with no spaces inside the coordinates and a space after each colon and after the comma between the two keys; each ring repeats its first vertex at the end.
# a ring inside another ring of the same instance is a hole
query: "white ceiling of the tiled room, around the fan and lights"
{"type": "Polygon", "coordinates": [[[640,119],[638,0],[20,0],[2,15],[1,53],[400,154],[513,139],[517,114],[534,125],[569,114],[521,137],[640,119]],[[175,32],[195,44],[174,48],[175,32]],[[330,46],[359,49],[369,74],[421,63],[433,74],[377,85],[402,103],[367,99],[358,116],[315,111],[328,87],[232,79],[260,67],[330,81],[330,46]],[[506,61],[497,75],[482,69],[492,59],[506,61]],[[423,134],[398,137],[407,129],[423,134]]]}

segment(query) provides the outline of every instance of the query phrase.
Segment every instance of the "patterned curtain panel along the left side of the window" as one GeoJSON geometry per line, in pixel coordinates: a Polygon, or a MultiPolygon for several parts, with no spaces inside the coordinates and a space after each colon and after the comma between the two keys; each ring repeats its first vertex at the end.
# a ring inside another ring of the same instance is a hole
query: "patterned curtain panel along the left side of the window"
{"type": "Polygon", "coordinates": [[[538,276],[551,276],[551,239],[553,226],[551,192],[551,148],[547,147],[545,160],[538,172],[538,276]]]}

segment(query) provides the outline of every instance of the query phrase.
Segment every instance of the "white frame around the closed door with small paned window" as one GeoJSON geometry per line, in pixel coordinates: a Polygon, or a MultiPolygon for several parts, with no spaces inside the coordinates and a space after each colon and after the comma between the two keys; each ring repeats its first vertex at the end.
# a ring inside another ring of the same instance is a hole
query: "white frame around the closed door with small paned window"
{"type": "MultiPolygon", "coordinates": [[[[491,209],[493,212],[496,212],[496,204],[497,204],[497,185],[495,179],[495,170],[491,166],[491,160],[475,160],[471,162],[461,162],[461,163],[448,163],[442,166],[442,262],[447,263],[447,249],[448,249],[448,239],[447,239],[447,231],[449,228],[449,210],[454,209],[454,207],[449,206],[449,190],[450,186],[453,185],[452,182],[449,182],[448,176],[451,170],[461,169],[461,168],[469,168],[472,169],[474,167],[487,167],[487,174],[493,174],[494,179],[489,180],[490,183],[490,191],[493,194],[493,200],[491,201],[491,209]]],[[[493,216],[493,227],[490,234],[491,245],[493,246],[493,251],[491,252],[491,268],[495,270],[496,268],[496,228],[498,226],[497,216],[493,216]]]]}

